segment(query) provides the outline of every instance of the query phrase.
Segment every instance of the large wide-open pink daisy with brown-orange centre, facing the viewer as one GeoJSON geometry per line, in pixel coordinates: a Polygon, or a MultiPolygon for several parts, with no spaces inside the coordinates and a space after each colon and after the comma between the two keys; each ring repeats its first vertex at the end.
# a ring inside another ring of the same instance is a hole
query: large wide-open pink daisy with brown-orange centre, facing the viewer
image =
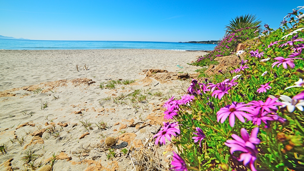
{"type": "Polygon", "coordinates": [[[249,113],[252,113],[253,109],[251,109],[247,105],[248,104],[232,102],[231,105],[227,105],[225,107],[220,108],[219,111],[216,112],[217,122],[219,122],[220,120],[221,123],[224,123],[226,118],[229,116],[229,124],[231,127],[234,127],[235,116],[243,123],[245,122],[244,117],[248,120],[252,120],[249,113]],[[244,111],[249,113],[245,113],[244,111]]]}

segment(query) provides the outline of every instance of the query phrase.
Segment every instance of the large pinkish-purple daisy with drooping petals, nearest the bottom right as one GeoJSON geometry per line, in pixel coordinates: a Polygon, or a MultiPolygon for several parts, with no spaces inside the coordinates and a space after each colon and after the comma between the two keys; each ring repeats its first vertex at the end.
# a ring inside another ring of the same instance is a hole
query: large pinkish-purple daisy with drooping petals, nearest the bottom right
{"type": "Polygon", "coordinates": [[[257,159],[257,147],[256,145],[260,143],[260,140],[257,138],[257,133],[259,131],[258,127],[255,127],[251,131],[251,135],[249,137],[248,132],[245,128],[241,129],[241,136],[237,136],[236,134],[232,134],[231,137],[234,140],[227,140],[225,145],[230,147],[230,153],[233,154],[235,151],[243,152],[240,154],[240,158],[238,161],[243,161],[244,165],[250,163],[250,169],[252,171],[257,171],[254,167],[254,161],[257,159]]]}

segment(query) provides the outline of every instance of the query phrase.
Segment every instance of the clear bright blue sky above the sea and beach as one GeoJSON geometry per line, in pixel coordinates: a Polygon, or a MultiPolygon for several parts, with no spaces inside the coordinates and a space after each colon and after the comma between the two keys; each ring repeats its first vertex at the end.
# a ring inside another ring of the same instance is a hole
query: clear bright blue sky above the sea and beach
{"type": "Polygon", "coordinates": [[[219,40],[231,18],[278,28],[302,1],[0,0],[0,35],[32,40],[219,40]]]}

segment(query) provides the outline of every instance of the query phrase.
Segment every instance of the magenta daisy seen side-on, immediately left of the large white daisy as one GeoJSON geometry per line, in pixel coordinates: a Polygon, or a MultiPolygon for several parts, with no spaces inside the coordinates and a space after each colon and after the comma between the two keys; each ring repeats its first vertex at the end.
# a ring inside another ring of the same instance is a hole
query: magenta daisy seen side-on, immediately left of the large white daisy
{"type": "Polygon", "coordinates": [[[276,111],[278,108],[276,106],[281,106],[283,103],[276,102],[278,98],[271,99],[268,97],[265,102],[262,100],[259,101],[251,101],[248,104],[251,105],[251,107],[257,109],[257,110],[262,110],[262,112],[267,111],[268,113],[272,112],[272,110],[276,111]]]}

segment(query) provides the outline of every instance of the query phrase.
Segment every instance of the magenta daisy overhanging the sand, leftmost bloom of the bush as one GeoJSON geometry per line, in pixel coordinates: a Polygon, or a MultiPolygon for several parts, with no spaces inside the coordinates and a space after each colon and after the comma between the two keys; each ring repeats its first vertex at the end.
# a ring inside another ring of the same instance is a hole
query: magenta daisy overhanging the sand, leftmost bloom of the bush
{"type": "Polygon", "coordinates": [[[158,141],[160,142],[160,144],[166,144],[166,140],[165,138],[167,138],[169,141],[171,141],[171,136],[174,135],[176,136],[177,134],[180,134],[181,131],[177,128],[177,123],[173,122],[171,124],[169,124],[168,122],[163,122],[164,126],[161,127],[161,130],[154,135],[153,138],[156,138],[155,140],[155,145],[158,144],[158,141]]]}

